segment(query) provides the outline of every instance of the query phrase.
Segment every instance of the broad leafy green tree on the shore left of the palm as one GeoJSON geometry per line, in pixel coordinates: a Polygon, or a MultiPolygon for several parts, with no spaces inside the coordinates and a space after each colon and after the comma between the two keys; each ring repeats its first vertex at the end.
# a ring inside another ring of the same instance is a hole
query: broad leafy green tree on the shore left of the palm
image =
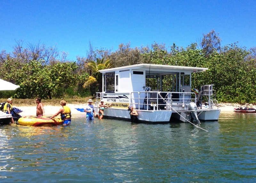
{"type": "MultiPolygon", "coordinates": [[[[3,68],[10,68],[10,61],[6,61],[3,68]]],[[[19,70],[11,67],[5,78],[8,80],[12,78],[16,84],[20,85],[15,97],[36,98],[40,96],[43,99],[52,99],[52,97],[63,96],[69,87],[76,86],[77,66],[75,62],[57,63],[53,66],[42,63],[44,60],[32,60],[23,64],[19,70]]]]}

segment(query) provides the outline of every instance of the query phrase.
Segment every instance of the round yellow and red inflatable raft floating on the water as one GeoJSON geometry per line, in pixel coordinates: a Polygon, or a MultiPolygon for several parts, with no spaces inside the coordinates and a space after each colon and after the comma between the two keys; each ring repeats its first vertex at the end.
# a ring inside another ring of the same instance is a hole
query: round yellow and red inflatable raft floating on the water
{"type": "Polygon", "coordinates": [[[29,126],[52,126],[52,125],[60,125],[62,124],[61,118],[52,118],[51,116],[26,116],[21,117],[18,120],[18,123],[21,125],[29,125],[29,126]]]}

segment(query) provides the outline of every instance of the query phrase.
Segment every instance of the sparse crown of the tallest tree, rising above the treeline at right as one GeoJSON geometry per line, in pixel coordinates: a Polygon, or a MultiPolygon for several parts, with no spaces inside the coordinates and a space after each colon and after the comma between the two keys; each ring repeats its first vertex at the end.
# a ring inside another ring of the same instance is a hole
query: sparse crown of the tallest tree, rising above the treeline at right
{"type": "Polygon", "coordinates": [[[201,46],[206,57],[209,57],[215,51],[220,51],[221,39],[219,37],[219,33],[216,34],[212,29],[211,32],[203,35],[204,37],[202,39],[201,46]]]}

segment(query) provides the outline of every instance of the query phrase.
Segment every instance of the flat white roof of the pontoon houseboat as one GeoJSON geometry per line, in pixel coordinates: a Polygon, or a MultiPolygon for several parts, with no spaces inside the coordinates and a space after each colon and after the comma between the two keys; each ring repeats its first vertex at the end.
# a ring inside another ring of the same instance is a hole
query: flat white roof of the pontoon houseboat
{"type": "MultiPolygon", "coordinates": [[[[170,66],[170,65],[158,65],[158,64],[135,64],[130,66],[118,67],[118,68],[109,68],[99,70],[101,73],[114,72],[114,71],[122,71],[122,70],[146,70],[150,71],[150,75],[168,75],[177,72],[195,73],[195,72],[204,72],[208,70],[208,68],[198,68],[198,67],[186,67],[186,66],[170,66]]],[[[148,73],[147,72],[147,73],[148,73]]]]}

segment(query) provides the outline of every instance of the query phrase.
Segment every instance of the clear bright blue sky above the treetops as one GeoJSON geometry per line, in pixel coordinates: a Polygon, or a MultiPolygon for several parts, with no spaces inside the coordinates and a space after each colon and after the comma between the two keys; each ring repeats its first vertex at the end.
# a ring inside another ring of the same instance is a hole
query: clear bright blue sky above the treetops
{"type": "Polygon", "coordinates": [[[221,46],[238,42],[256,46],[256,1],[143,1],[143,0],[2,0],[0,51],[45,44],[68,52],[69,60],[95,49],[116,51],[121,43],[132,48],[154,42],[187,47],[212,29],[221,46]]]}

